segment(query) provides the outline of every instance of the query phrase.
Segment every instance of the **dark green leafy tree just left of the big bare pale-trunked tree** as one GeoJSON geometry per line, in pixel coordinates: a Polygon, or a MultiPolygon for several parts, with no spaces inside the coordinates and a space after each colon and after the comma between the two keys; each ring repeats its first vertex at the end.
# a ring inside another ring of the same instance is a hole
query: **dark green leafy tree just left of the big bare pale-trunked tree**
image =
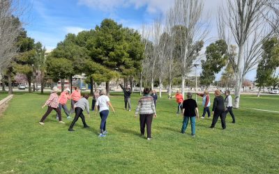
{"type": "Polygon", "coordinates": [[[206,61],[202,61],[201,84],[206,88],[215,80],[215,74],[227,64],[227,43],[217,40],[206,47],[206,61]]]}

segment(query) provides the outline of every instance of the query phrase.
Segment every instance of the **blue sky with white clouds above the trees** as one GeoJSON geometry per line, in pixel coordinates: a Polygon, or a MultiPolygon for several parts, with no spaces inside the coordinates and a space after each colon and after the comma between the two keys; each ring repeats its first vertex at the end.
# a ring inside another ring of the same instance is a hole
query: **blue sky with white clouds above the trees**
{"type": "MultiPolygon", "coordinates": [[[[156,17],[164,16],[174,0],[24,0],[29,10],[24,19],[24,28],[29,37],[40,41],[48,50],[63,41],[67,33],[94,29],[105,18],[133,29],[141,29],[156,17]]],[[[218,39],[216,17],[222,0],[204,1],[203,17],[210,22],[208,42],[218,39]]],[[[206,46],[206,45],[205,45],[206,46]]],[[[204,49],[202,52],[204,52],[204,49]]],[[[197,62],[199,63],[199,62],[197,62]]],[[[197,74],[201,67],[197,68],[197,74]]],[[[195,70],[191,72],[195,74],[195,70]]],[[[255,78],[255,70],[246,75],[255,78]]],[[[216,75],[220,79],[220,73],[216,75]]]]}

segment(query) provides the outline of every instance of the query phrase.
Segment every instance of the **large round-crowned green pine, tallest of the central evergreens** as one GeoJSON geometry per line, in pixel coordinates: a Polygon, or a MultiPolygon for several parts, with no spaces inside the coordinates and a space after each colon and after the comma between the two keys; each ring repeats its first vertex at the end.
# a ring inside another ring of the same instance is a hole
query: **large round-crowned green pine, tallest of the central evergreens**
{"type": "Polygon", "coordinates": [[[140,35],[133,29],[123,28],[112,19],[104,19],[96,26],[95,37],[89,47],[92,61],[103,65],[110,72],[105,74],[107,94],[110,94],[110,80],[119,77],[133,77],[140,71],[143,45],[140,35]]]}

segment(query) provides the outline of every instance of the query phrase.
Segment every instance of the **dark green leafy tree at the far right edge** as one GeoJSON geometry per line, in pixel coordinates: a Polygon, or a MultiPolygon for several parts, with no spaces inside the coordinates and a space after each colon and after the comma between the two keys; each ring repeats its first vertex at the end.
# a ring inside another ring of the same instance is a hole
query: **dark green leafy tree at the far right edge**
{"type": "MultiPolygon", "coordinates": [[[[270,84],[269,81],[273,81],[273,74],[279,66],[279,40],[276,37],[264,40],[262,49],[262,59],[257,66],[256,82],[259,87],[259,92],[262,87],[270,84]]],[[[272,84],[272,83],[271,83],[272,84]]],[[[259,92],[257,97],[259,97],[259,92]]]]}

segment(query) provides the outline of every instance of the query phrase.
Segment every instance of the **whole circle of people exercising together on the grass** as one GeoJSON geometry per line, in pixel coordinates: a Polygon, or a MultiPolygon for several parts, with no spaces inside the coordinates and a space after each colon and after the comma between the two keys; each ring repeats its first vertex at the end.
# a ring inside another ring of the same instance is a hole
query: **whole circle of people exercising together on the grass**
{"type": "MultiPolygon", "coordinates": [[[[123,85],[119,84],[123,90],[124,93],[124,102],[125,102],[125,110],[131,111],[131,102],[130,102],[130,95],[132,93],[130,86],[124,87],[123,85]]],[[[88,128],[89,126],[86,124],[85,117],[83,114],[83,111],[86,110],[86,112],[89,115],[89,102],[88,98],[89,95],[83,95],[81,97],[81,93],[79,88],[75,87],[75,90],[73,93],[70,94],[70,89],[66,88],[60,96],[57,95],[57,92],[59,89],[54,86],[52,89],[52,93],[50,94],[49,99],[45,102],[44,106],[48,106],[47,111],[43,115],[43,117],[40,119],[39,124],[44,125],[45,118],[50,115],[52,110],[56,111],[57,119],[60,123],[65,123],[62,121],[61,118],[61,109],[63,108],[64,112],[66,113],[66,116],[68,119],[70,119],[70,113],[75,111],[75,118],[73,119],[73,122],[70,124],[70,127],[68,128],[68,131],[72,132],[74,131],[73,127],[75,125],[75,122],[77,122],[78,118],[82,119],[82,123],[84,125],[84,128],[88,128]],[[71,111],[69,112],[67,109],[67,101],[71,100],[71,111]]],[[[151,140],[151,124],[153,118],[156,118],[156,102],[158,99],[158,96],[156,94],[156,90],[152,90],[152,93],[150,93],[151,90],[149,88],[144,88],[144,95],[140,98],[140,100],[137,103],[137,108],[135,109],[135,117],[137,115],[140,115],[140,133],[142,136],[144,136],[145,127],[147,132],[147,140],[151,140]]],[[[229,94],[229,90],[225,91],[225,99],[221,95],[223,93],[221,90],[215,90],[214,95],[216,96],[214,98],[213,107],[212,107],[212,113],[213,113],[213,120],[211,123],[211,128],[214,129],[216,122],[218,121],[218,118],[220,117],[222,127],[223,129],[226,129],[226,122],[225,118],[227,113],[230,113],[232,116],[232,122],[235,123],[234,113],[232,112],[232,96],[229,94]]],[[[100,113],[100,137],[104,137],[107,134],[106,130],[106,120],[109,116],[109,108],[114,111],[114,107],[112,106],[110,102],[110,98],[106,95],[105,90],[96,90],[93,94],[93,100],[91,104],[91,110],[95,111],[95,114],[97,113],[97,110],[100,113]]],[[[208,117],[211,118],[211,112],[209,109],[209,106],[211,106],[210,102],[210,96],[209,91],[204,90],[204,93],[197,93],[197,95],[202,97],[202,106],[203,114],[202,118],[205,118],[206,113],[208,113],[208,117]]],[[[186,128],[188,125],[188,122],[190,120],[191,125],[191,134],[193,137],[195,137],[195,118],[199,118],[199,110],[197,107],[197,102],[192,99],[193,94],[187,93],[186,100],[183,100],[183,95],[177,91],[176,95],[172,97],[176,97],[176,102],[178,103],[178,110],[177,114],[182,113],[183,115],[183,124],[181,127],[181,133],[185,134],[186,128]]],[[[172,97],[169,97],[172,98],[172,97]]],[[[42,108],[43,108],[42,107],[42,108]]],[[[90,117],[90,116],[89,116],[90,117]]]]}

